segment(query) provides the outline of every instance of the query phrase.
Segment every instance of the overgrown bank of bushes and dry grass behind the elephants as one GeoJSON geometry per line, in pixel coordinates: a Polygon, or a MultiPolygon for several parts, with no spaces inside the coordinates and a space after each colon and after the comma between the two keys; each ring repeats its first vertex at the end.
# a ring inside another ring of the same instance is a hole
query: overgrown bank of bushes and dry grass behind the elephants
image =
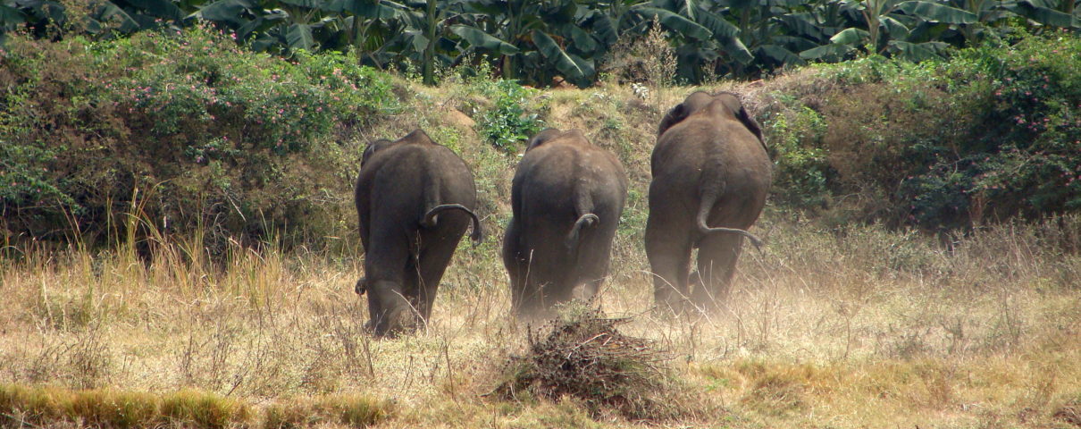
{"type": "MultiPolygon", "coordinates": [[[[950,230],[1079,207],[1079,58],[1081,39],[1063,32],[948,61],[871,56],[702,89],[740,93],[762,123],[776,163],[771,210],[950,230]]],[[[640,209],[655,124],[691,91],[539,91],[483,68],[448,70],[428,88],[350,56],[241,51],[201,28],[13,38],[0,62],[9,242],[101,243],[137,212],[162,233],[200,229],[216,251],[228,237],[328,245],[352,233],[365,142],[415,128],[473,167],[493,227],[513,153],[544,126],[583,129],[614,151],[640,209]]],[[[641,229],[641,211],[628,216],[625,229],[641,229]]]]}

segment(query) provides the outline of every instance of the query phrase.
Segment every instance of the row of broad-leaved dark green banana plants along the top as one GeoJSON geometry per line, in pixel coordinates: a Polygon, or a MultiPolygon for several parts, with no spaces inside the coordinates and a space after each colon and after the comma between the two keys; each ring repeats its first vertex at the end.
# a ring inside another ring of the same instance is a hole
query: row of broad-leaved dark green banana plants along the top
{"type": "Polygon", "coordinates": [[[490,56],[505,79],[579,86],[597,80],[612,49],[651,21],[678,46],[679,78],[768,75],[806,61],[857,54],[924,61],[1009,35],[1081,27],[1075,1],[867,0],[99,0],[0,2],[0,40],[25,28],[64,39],[213,23],[258,52],[351,51],[379,68],[435,69],[471,54],[490,56]],[[1057,8],[1057,9],[1056,9],[1057,8]]]}

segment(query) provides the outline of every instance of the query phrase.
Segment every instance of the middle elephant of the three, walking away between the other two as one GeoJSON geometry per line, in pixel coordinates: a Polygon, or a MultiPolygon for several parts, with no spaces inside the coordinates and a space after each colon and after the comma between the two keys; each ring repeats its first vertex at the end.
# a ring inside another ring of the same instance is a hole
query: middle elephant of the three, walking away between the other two
{"type": "Polygon", "coordinates": [[[530,140],[510,198],[503,262],[516,313],[543,317],[553,304],[592,297],[627,199],[619,160],[578,130],[545,130],[530,140]]]}

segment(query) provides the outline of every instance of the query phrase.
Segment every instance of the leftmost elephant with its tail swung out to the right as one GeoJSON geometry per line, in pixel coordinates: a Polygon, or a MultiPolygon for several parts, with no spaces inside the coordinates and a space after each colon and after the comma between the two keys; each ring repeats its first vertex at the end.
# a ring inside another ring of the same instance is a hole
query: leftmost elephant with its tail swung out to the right
{"type": "Polygon", "coordinates": [[[366,326],[378,336],[415,329],[431,316],[439,281],[470,219],[473,244],[483,239],[472,212],[472,173],[416,130],[368,146],[355,197],[365,253],[356,292],[368,292],[366,326]]]}

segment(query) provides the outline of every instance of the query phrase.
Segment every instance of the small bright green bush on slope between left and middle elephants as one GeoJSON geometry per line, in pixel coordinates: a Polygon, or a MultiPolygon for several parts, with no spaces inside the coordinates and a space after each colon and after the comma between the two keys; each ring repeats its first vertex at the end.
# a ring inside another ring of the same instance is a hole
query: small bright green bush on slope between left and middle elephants
{"type": "Polygon", "coordinates": [[[479,84],[481,94],[493,100],[493,106],[477,122],[478,132],[489,143],[513,151],[520,143],[544,129],[539,113],[546,106],[535,100],[538,91],[512,80],[481,81],[479,84]]]}

